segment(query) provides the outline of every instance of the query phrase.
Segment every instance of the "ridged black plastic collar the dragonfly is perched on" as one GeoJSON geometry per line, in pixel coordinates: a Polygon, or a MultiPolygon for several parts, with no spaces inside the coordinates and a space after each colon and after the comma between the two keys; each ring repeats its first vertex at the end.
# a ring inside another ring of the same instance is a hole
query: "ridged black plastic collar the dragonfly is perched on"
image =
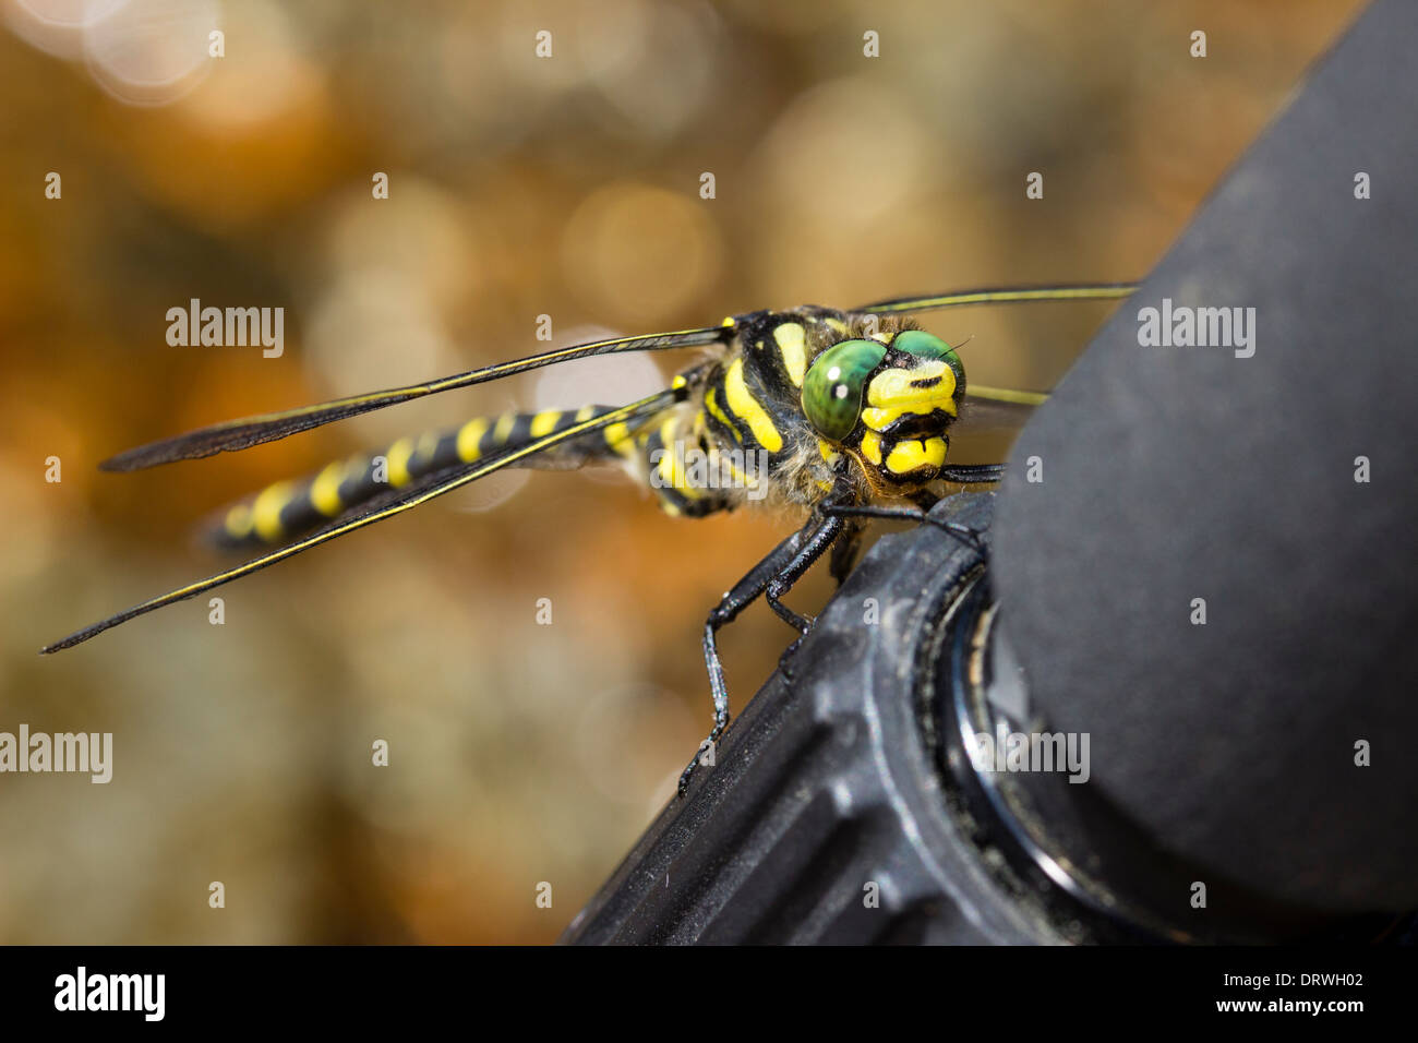
{"type": "MultiPolygon", "coordinates": [[[[984,526],[991,501],[949,509],[984,526]]],[[[978,566],[939,529],[883,536],[563,941],[1059,941],[947,813],[902,668],[978,566]]]]}

